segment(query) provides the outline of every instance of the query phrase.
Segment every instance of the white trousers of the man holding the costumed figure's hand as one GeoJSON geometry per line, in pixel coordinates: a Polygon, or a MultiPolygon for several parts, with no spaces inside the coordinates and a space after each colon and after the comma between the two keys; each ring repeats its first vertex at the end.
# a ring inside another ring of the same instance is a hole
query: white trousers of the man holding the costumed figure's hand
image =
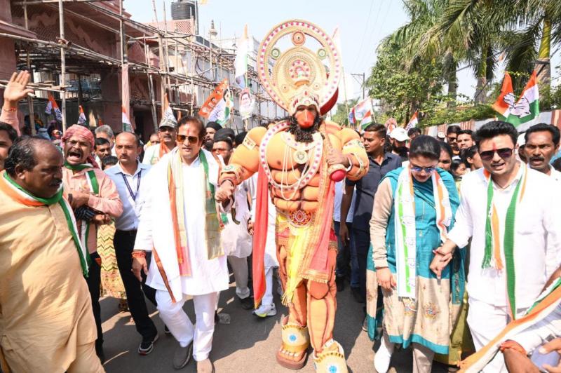
{"type": "Polygon", "coordinates": [[[205,360],[212,349],[212,334],[215,332],[215,307],[218,301],[218,292],[195,295],[196,324],[193,325],[183,305],[187,297],[173,303],[170,294],[165,290],[156,290],[156,302],[163,323],[168,326],[171,334],[182,347],[187,347],[193,342],[193,358],[196,361],[205,360]]]}

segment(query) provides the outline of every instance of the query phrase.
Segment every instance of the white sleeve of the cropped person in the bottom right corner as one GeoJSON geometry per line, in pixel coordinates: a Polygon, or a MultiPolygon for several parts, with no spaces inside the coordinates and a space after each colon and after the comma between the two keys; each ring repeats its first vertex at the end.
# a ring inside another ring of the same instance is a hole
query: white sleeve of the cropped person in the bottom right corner
{"type": "Polygon", "coordinates": [[[517,341],[527,353],[531,353],[549,341],[549,337],[561,337],[561,305],[539,323],[516,334],[513,341],[517,341]]]}

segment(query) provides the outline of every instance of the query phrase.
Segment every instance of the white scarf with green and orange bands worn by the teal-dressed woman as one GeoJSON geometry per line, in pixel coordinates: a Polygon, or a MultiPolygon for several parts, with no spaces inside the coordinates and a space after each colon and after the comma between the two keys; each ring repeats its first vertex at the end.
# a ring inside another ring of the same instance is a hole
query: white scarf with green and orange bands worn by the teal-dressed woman
{"type": "MultiPolygon", "coordinates": [[[[438,172],[431,175],[436,210],[436,225],[440,240],[445,242],[452,222],[452,208],[448,190],[438,172]]],[[[415,198],[413,177],[409,168],[403,168],[398,178],[394,203],[396,229],[396,267],[398,296],[415,299],[417,285],[417,247],[415,236],[415,198]]]]}

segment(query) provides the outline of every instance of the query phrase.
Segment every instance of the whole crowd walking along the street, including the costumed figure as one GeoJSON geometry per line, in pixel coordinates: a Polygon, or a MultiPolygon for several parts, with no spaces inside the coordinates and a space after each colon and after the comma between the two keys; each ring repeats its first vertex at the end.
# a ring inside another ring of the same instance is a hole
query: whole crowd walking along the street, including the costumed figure
{"type": "Polygon", "coordinates": [[[534,362],[561,352],[561,306],[496,342],[559,286],[555,126],[518,133],[490,121],[435,138],[372,123],[358,133],[308,101],[249,133],[184,116],[165,118],[146,145],[110,126],[48,139],[19,135],[28,81],[14,74],[0,116],[4,372],[103,372],[102,295],[130,312],[139,355],[158,339],[147,298],[177,340],[173,367],[193,358],[197,372],[213,372],[230,271],[242,308],[275,316],[274,292],[288,307],[284,367],[302,367],[311,344],[318,372],[346,372],[332,330],[349,283],[363,329],[380,341],[377,372],[396,346],[412,346],[414,372],[489,348],[500,352],[484,372],[561,372],[534,362]]]}

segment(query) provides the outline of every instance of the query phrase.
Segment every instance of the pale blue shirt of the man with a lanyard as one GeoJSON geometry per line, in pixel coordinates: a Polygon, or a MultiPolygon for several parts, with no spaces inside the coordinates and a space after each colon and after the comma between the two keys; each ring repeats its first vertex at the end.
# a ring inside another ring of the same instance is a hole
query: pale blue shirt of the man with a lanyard
{"type": "Polygon", "coordinates": [[[123,215],[115,219],[115,228],[119,231],[134,231],[138,228],[138,215],[140,213],[138,208],[140,207],[141,201],[140,190],[142,190],[142,188],[139,188],[139,179],[140,185],[142,185],[142,181],[145,181],[148,176],[150,167],[150,165],[138,162],[135,174],[129,175],[127,172],[123,171],[121,163],[119,162],[105,170],[107,176],[115,183],[117,191],[119,192],[119,198],[121,198],[121,202],[123,203],[123,215]],[[130,190],[135,195],[134,199],[133,196],[130,195],[123,175],[126,177],[130,190]]]}

